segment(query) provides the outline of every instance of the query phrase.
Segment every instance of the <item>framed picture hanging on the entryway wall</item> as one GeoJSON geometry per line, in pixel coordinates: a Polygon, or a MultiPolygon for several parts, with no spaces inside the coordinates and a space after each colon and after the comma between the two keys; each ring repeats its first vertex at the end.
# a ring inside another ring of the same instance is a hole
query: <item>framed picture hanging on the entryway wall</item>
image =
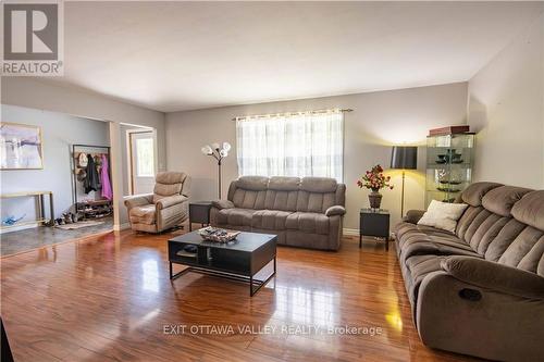
{"type": "Polygon", "coordinates": [[[0,123],[0,170],[44,168],[41,128],[0,123]]]}

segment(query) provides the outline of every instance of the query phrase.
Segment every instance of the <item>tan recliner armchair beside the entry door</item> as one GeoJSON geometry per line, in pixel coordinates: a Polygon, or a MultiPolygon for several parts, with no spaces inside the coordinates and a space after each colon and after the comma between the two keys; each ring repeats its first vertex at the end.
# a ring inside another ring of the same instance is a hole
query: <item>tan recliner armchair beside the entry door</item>
{"type": "Polygon", "coordinates": [[[133,230],[161,233],[188,217],[189,177],[183,172],[160,172],[153,194],[125,200],[133,230]]]}

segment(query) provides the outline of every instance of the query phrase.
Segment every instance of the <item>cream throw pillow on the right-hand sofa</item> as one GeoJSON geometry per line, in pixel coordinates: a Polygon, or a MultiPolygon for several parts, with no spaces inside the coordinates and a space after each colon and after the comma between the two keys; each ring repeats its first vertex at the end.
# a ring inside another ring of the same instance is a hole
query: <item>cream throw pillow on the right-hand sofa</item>
{"type": "Polygon", "coordinates": [[[449,203],[432,200],[429,209],[419,220],[418,225],[432,226],[450,233],[455,233],[457,221],[461,217],[466,203],[449,203]]]}

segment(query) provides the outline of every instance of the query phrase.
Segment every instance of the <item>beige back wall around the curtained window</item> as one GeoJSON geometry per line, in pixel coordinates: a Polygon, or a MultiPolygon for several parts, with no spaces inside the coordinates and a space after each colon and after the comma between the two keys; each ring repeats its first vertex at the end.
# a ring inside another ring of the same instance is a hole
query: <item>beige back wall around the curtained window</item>
{"type": "MultiPolygon", "coordinates": [[[[429,128],[465,124],[467,84],[379,91],[349,96],[236,105],[166,114],[168,168],[193,177],[191,199],[217,198],[217,163],[200,153],[205,143],[228,141],[233,150],[223,165],[223,195],[238,176],[236,165],[236,115],[350,108],[345,116],[345,171],[347,184],[346,228],[358,228],[359,209],[368,205],[367,191],[357,178],[375,163],[388,166],[391,146],[424,145],[429,128]]],[[[419,172],[410,172],[406,185],[406,208],[424,207],[424,148],[419,152],[419,172]]],[[[392,222],[400,217],[400,173],[393,172],[394,190],[384,190],[383,208],[392,222]]]]}

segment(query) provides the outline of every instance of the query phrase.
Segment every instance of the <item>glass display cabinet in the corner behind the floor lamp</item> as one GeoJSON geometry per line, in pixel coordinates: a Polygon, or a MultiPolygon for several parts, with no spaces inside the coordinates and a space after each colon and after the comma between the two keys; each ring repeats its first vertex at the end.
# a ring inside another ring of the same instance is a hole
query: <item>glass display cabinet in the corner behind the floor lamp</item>
{"type": "Polygon", "coordinates": [[[474,134],[426,137],[425,208],[431,200],[454,202],[472,182],[474,134]]]}

